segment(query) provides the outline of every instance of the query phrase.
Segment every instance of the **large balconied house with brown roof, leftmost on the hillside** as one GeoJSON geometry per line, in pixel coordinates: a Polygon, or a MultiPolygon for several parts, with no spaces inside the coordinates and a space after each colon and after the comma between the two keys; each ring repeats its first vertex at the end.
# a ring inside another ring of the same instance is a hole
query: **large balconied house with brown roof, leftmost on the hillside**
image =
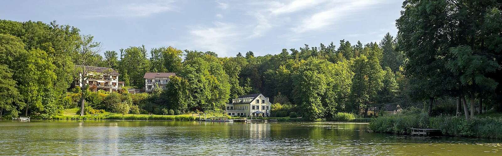
{"type": "MultiPolygon", "coordinates": [[[[82,65],[75,65],[75,67],[82,69],[82,65]]],[[[118,76],[120,75],[115,69],[109,67],[99,66],[85,66],[89,77],[85,84],[89,86],[92,91],[104,90],[108,92],[117,91],[120,88],[118,84],[118,76]]],[[[81,83],[82,73],[79,73],[77,78],[73,81],[72,86],[82,86],[81,83]]]]}

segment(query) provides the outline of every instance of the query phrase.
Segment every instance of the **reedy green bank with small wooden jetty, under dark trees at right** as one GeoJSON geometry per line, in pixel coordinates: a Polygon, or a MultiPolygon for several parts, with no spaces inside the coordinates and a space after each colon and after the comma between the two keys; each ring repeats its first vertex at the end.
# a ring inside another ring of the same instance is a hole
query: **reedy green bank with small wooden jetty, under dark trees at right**
{"type": "Polygon", "coordinates": [[[473,117],[466,120],[463,116],[397,114],[374,118],[369,128],[375,132],[398,134],[410,134],[410,128],[436,128],[449,136],[502,138],[502,118],[498,117],[473,117]]]}

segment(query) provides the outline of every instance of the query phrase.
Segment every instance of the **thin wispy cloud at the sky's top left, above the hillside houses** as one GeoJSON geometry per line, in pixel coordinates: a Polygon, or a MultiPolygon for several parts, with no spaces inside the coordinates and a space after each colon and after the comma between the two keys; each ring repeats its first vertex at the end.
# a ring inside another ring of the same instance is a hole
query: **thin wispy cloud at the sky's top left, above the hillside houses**
{"type": "Polygon", "coordinates": [[[119,4],[117,6],[107,6],[106,8],[98,8],[98,11],[91,13],[89,16],[96,17],[142,17],[150,16],[166,11],[172,11],[175,7],[172,0],[157,0],[144,1],[141,3],[119,4]]]}

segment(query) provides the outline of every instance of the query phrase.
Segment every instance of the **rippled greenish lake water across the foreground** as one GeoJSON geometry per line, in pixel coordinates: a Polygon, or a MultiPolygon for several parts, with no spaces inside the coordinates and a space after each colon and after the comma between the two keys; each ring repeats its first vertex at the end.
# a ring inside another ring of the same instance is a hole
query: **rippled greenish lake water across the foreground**
{"type": "Polygon", "coordinates": [[[334,122],[0,121],[1,155],[501,155],[500,140],[334,122]]]}

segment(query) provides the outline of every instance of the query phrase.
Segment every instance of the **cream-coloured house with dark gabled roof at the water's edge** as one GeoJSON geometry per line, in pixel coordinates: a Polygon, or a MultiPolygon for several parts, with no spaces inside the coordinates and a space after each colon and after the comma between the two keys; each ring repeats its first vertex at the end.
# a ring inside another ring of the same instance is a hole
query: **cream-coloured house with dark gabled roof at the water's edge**
{"type": "Polygon", "coordinates": [[[270,116],[269,97],[261,93],[241,95],[225,105],[223,112],[230,116],[270,116]]]}

